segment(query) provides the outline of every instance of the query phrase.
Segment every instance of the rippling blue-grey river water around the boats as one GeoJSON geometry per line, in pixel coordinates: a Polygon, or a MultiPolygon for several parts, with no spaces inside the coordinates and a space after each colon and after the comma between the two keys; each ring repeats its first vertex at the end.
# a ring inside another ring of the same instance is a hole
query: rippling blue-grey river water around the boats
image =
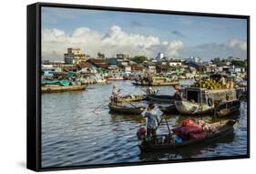
{"type": "MultiPolygon", "coordinates": [[[[234,134],[227,138],[181,150],[140,152],[136,133],[138,128],[145,126],[145,118],[109,113],[108,102],[113,83],[122,89],[123,95],[143,94],[144,89],[133,86],[130,81],[118,81],[90,85],[84,91],[42,95],[43,168],[247,154],[247,102],[241,102],[240,113],[233,116],[239,124],[234,134]]],[[[160,91],[161,94],[174,93],[172,87],[160,87],[160,91]]],[[[135,105],[147,104],[143,101],[135,105]]],[[[169,126],[179,126],[184,118],[168,116],[169,126]]],[[[203,119],[211,121],[207,116],[203,119]]],[[[165,132],[168,128],[166,124],[161,124],[158,133],[165,132]]]]}

